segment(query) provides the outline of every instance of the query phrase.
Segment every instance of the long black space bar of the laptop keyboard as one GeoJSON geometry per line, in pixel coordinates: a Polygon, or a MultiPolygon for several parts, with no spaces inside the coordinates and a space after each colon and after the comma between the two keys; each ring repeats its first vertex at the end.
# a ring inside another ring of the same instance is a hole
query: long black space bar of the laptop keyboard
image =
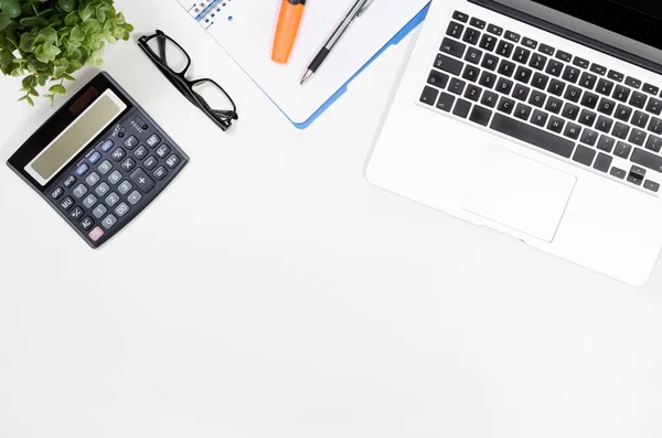
{"type": "Polygon", "coordinates": [[[570,140],[499,113],[494,114],[490,128],[565,158],[570,158],[575,149],[570,140]]]}

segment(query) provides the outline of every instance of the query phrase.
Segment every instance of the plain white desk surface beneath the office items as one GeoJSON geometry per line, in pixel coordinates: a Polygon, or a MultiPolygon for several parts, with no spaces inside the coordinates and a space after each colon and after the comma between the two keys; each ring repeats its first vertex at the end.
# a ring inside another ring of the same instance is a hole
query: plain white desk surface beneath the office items
{"type": "MultiPolygon", "coordinates": [[[[662,435],[662,265],[630,288],[364,179],[413,38],[299,131],[175,0],[116,3],[241,120],[222,133],[135,41],[111,49],[191,163],[96,252],[0,167],[0,437],[662,435]]],[[[19,86],[0,78],[2,162],[52,114],[19,86]]]]}

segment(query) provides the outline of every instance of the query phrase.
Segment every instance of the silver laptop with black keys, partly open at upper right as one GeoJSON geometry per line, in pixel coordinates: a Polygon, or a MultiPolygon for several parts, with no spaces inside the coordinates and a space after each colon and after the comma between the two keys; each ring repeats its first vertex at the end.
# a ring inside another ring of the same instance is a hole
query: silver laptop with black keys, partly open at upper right
{"type": "Polygon", "coordinates": [[[645,284],[662,245],[660,29],[647,0],[433,1],[369,181],[645,284]]]}

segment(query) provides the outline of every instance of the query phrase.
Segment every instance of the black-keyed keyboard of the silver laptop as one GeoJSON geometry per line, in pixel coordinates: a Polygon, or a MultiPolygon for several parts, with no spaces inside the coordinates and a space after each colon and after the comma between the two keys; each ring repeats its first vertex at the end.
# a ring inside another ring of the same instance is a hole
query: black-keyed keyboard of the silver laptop
{"type": "Polygon", "coordinates": [[[655,85],[456,11],[419,100],[658,193],[659,96],[655,85]]]}

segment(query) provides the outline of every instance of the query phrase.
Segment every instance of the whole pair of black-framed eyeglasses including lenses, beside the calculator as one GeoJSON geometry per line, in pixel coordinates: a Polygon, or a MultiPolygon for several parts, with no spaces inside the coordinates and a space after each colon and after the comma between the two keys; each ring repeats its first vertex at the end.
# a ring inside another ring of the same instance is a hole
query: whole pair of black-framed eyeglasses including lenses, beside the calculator
{"type": "Polygon", "coordinates": [[[168,81],[189,102],[200,108],[224,131],[237,120],[237,107],[225,89],[214,81],[204,78],[186,79],[191,66],[191,56],[181,45],[163,32],[157,30],[153,35],[141,36],[138,45],[151,58],[168,81]]]}

